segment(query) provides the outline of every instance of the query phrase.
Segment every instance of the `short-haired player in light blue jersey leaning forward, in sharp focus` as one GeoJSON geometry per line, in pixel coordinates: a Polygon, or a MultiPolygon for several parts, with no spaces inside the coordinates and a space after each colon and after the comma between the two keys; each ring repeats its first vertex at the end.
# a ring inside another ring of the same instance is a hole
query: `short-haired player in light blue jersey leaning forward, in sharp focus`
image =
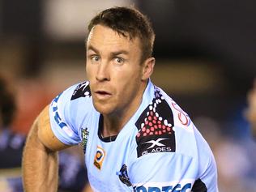
{"type": "Polygon", "coordinates": [[[23,156],[25,188],[54,191],[54,151],[82,143],[95,191],[218,191],[207,143],[149,80],[155,34],[147,18],[114,7],[88,29],[88,82],[67,89],[36,119],[23,156]]]}

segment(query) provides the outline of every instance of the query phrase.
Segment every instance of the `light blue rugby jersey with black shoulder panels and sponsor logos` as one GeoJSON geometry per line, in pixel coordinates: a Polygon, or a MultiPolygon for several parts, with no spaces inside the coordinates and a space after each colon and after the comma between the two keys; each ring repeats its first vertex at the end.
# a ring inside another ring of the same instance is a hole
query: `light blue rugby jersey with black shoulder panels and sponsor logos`
{"type": "Polygon", "coordinates": [[[101,137],[103,116],[88,82],[57,96],[49,108],[56,137],[81,144],[94,191],[216,192],[214,156],[190,117],[151,81],[139,109],[117,136],[101,137]]]}

